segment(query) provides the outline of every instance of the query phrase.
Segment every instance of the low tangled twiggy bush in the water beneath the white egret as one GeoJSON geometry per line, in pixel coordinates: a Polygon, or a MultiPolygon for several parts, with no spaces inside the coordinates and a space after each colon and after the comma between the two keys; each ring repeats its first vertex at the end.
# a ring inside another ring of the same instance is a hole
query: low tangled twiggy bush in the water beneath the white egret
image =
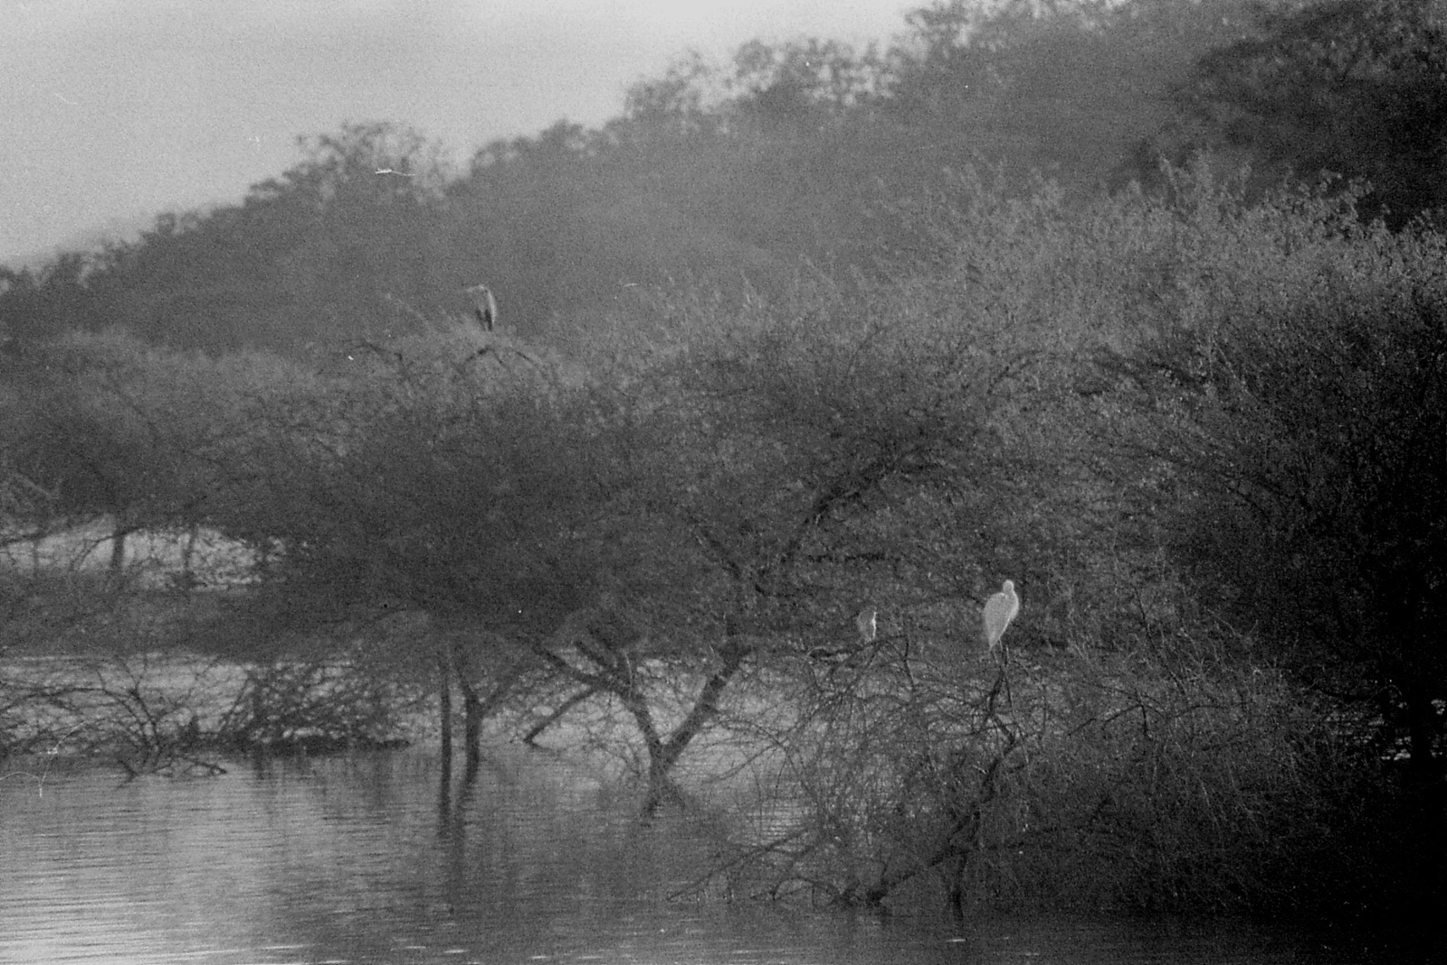
{"type": "Polygon", "coordinates": [[[1331,888],[1379,872],[1328,858],[1338,828],[1373,823],[1354,815],[1362,761],[1279,674],[1205,651],[996,664],[951,644],[941,661],[894,641],[803,689],[764,820],[712,874],[760,897],[961,911],[1305,909],[1305,867],[1331,888]]]}

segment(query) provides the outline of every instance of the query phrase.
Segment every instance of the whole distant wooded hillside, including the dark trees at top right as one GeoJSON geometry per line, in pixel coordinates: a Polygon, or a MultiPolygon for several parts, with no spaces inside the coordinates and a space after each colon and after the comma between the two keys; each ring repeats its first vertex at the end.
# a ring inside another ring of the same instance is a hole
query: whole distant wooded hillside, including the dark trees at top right
{"type": "Polygon", "coordinates": [[[289,354],[418,331],[498,294],[535,337],[631,310],[640,286],[777,294],[800,259],[878,272],[917,246],[901,207],[949,172],[1040,172],[1084,200],[1207,150],[1256,185],[1369,179],[1393,227],[1443,201],[1431,3],[951,0],[887,51],[748,43],[686,58],[601,129],[557,126],[466,171],[405,126],[302,139],[239,205],[165,214],[137,242],[0,275],[10,344],[119,327],[158,344],[289,354]]]}

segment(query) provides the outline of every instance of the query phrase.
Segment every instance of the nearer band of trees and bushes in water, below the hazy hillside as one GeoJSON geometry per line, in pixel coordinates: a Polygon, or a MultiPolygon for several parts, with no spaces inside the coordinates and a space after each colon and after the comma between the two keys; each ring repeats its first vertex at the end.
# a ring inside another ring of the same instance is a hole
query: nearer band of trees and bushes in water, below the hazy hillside
{"type": "MultiPolygon", "coordinates": [[[[255,550],[143,647],[456,681],[473,731],[611,709],[648,810],[735,748],[771,777],[728,820],[765,820],[705,893],[1435,913],[1443,237],[1168,185],[961,175],[910,272],[644,299],[569,353],[72,336],[4,402],[7,512],[255,550]]],[[[114,583],[42,576],[6,639],[114,632],[114,583]]]]}

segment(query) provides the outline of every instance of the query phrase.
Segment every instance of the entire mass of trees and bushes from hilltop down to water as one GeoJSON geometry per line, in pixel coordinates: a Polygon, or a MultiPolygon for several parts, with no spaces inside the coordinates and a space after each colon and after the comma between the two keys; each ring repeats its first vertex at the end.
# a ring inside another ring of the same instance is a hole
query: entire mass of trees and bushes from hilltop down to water
{"type": "Polygon", "coordinates": [[[729,802],[703,894],[1440,911],[1434,16],[938,4],[462,174],[352,126],[7,272],[6,540],[113,551],[0,580],[0,748],[440,709],[470,773],[492,722],[729,802]],[[139,579],[161,531],[240,576],[139,579]]]}

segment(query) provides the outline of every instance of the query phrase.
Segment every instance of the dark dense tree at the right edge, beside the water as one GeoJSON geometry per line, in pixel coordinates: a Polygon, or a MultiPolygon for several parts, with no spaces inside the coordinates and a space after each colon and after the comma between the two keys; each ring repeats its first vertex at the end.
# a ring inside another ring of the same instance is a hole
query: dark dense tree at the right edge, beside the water
{"type": "Polygon", "coordinates": [[[1385,765],[1405,760],[1428,855],[1420,871],[1435,888],[1447,249],[1437,234],[1356,227],[1349,204],[1304,197],[1217,217],[1236,250],[1213,246],[1200,266],[1210,297],[1116,357],[1133,424],[1116,451],[1143,472],[1146,499],[1176,508],[1169,545],[1197,592],[1356,706],[1385,765]],[[1221,285],[1229,276],[1252,284],[1221,285]]]}

